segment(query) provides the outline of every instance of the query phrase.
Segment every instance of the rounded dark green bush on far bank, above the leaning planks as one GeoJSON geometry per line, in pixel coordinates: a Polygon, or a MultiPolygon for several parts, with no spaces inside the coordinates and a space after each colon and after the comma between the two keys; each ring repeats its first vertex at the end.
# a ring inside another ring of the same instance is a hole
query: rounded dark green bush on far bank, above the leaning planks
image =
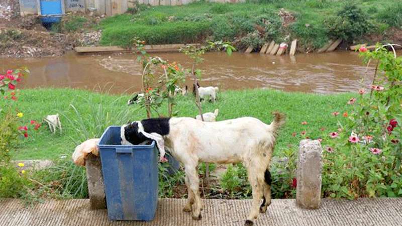
{"type": "Polygon", "coordinates": [[[351,42],[373,28],[368,18],[356,4],[348,2],[337,12],[337,16],[330,17],[325,23],[331,37],[351,42]]]}

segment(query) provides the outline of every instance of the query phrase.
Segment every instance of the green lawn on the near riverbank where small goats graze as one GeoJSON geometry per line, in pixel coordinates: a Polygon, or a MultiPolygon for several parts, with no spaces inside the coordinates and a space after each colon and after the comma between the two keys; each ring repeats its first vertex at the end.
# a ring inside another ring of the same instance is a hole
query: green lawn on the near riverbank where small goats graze
{"type": "MultiPolygon", "coordinates": [[[[24,119],[41,121],[50,114],[60,114],[63,133],[51,134],[43,124],[38,133],[30,132],[30,137],[12,152],[13,159],[53,159],[61,154],[70,154],[77,144],[88,138],[100,137],[110,125],[122,125],[128,121],[145,118],[145,110],[137,106],[127,106],[128,95],[108,95],[78,89],[25,89],[19,99],[19,108],[24,119]],[[76,110],[70,105],[73,104],[76,110]],[[78,129],[78,130],[77,130],[78,129]]],[[[250,116],[270,123],[271,111],[279,110],[287,116],[281,129],[275,155],[288,145],[298,145],[300,132],[317,138],[322,127],[335,130],[337,119],[333,111],[346,111],[350,93],[319,95],[289,93],[269,89],[228,90],[219,93],[216,103],[204,103],[205,112],[219,108],[218,120],[250,116]],[[308,126],[301,123],[307,121],[308,126]],[[308,129],[307,129],[308,128],[308,129]],[[296,137],[292,133],[296,132],[296,137]]],[[[166,109],[163,106],[163,109],[166,109]]],[[[179,96],[176,108],[180,117],[194,117],[197,108],[193,97],[179,96]]],[[[162,111],[166,115],[166,111],[162,111]]]]}

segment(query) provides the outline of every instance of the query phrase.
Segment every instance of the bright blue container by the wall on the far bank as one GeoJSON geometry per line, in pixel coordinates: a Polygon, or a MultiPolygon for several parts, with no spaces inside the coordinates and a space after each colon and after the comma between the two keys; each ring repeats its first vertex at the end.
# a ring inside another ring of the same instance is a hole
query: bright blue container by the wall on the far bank
{"type": "Polygon", "coordinates": [[[56,23],[61,21],[63,14],[61,4],[62,0],[40,0],[41,21],[44,24],[56,23]]]}

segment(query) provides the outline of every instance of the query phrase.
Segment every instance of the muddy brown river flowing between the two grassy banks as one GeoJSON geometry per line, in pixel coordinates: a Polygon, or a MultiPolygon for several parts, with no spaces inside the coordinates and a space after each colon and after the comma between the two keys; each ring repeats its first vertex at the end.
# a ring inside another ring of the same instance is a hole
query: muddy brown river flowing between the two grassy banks
{"type": "MultiPolygon", "coordinates": [[[[190,66],[181,53],[157,54],[170,62],[190,66]]],[[[354,52],[298,54],[277,57],[255,54],[207,53],[199,67],[203,70],[202,86],[221,89],[274,88],[285,91],[333,93],[354,91],[372,78],[372,68],[365,66],[354,52]]],[[[0,71],[27,66],[31,75],[23,86],[74,87],[90,90],[110,89],[113,93],[139,91],[141,67],[133,54],[76,55],[62,57],[0,59],[0,71]],[[105,88],[106,87],[106,88],[105,88]]],[[[191,84],[188,80],[187,84],[191,84]]]]}

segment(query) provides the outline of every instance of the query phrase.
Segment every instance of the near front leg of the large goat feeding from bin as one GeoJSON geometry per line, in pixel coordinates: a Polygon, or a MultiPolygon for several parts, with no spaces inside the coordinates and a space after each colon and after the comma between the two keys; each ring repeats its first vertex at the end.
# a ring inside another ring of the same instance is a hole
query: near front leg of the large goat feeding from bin
{"type": "Polygon", "coordinates": [[[192,218],[201,219],[201,197],[199,196],[199,178],[194,166],[185,166],[185,174],[188,177],[190,188],[194,194],[194,204],[192,206],[192,218]]]}

